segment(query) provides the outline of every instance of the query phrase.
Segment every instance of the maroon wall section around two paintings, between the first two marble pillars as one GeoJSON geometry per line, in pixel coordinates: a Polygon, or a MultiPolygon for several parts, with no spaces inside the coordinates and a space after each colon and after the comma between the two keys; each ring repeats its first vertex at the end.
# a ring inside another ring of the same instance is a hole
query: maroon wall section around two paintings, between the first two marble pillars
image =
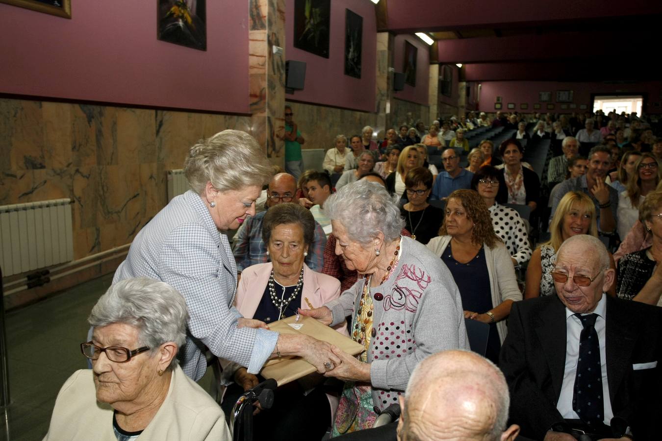
{"type": "Polygon", "coordinates": [[[324,58],[294,47],[294,3],[285,3],[285,60],[305,61],[306,81],[303,91],[285,95],[285,99],[375,112],[375,5],[370,1],[331,2],[329,58],[324,58]],[[345,9],[363,17],[361,79],[344,73],[345,9]]]}

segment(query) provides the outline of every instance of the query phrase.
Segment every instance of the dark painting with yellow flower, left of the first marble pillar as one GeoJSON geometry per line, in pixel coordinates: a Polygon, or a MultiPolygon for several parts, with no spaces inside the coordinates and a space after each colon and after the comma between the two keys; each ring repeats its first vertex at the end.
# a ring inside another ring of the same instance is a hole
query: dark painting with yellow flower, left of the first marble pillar
{"type": "Polygon", "coordinates": [[[207,0],[158,0],[156,38],[207,50],[207,0]]]}

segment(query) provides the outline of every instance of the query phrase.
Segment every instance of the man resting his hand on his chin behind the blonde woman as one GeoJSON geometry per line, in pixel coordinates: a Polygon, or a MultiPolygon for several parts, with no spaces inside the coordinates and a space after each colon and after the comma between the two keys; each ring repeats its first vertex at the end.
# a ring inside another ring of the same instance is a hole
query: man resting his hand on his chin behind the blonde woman
{"type": "Polygon", "coordinates": [[[551,202],[551,216],[554,216],[561,198],[569,191],[579,191],[588,194],[595,205],[598,230],[604,233],[616,231],[618,222],[618,192],[604,183],[606,173],[611,164],[611,152],[604,145],[596,145],[589,151],[589,169],[586,175],[575,179],[564,180],[559,184],[551,202]]]}

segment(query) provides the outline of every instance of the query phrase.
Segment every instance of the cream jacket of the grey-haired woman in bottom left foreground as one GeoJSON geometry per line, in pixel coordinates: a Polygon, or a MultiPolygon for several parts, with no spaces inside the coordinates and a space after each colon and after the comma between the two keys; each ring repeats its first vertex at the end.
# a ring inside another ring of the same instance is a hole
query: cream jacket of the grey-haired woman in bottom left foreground
{"type": "MultiPolygon", "coordinates": [[[[113,408],[96,398],[91,369],[78,370],[55,401],[44,440],[117,441],[113,408]]],[[[216,402],[177,366],[164,403],[138,440],[232,440],[216,402]]]]}

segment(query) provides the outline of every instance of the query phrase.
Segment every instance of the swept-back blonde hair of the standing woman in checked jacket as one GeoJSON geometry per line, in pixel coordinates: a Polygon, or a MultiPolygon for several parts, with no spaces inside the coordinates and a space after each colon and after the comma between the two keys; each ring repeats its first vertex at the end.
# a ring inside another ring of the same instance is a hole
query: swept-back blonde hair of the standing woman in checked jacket
{"type": "Polygon", "coordinates": [[[255,138],[240,130],[223,130],[191,147],[184,175],[193,191],[203,194],[207,182],[220,191],[261,187],[273,170],[255,138]]]}

